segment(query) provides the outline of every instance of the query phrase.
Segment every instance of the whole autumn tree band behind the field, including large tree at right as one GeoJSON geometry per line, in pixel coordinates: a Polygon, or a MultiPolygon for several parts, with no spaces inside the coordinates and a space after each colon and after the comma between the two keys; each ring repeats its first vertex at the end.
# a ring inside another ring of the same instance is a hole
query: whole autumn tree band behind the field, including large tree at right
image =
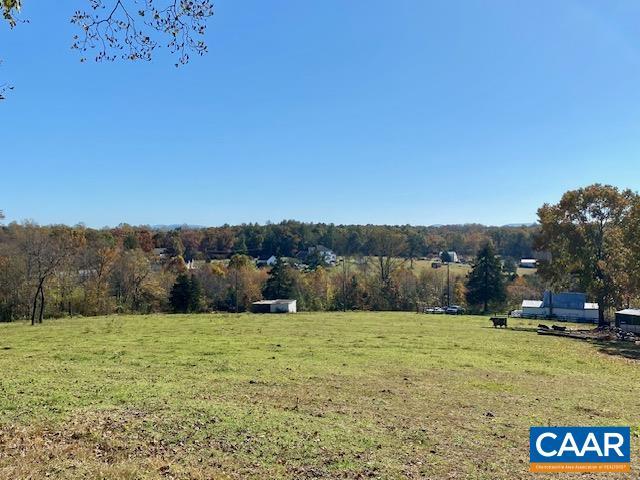
{"type": "MultiPolygon", "coordinates": [[[[0,219],[2,214],[0,213],[0,219]]],[[[614,309],[640,306],[640,196],[591,185],[538,211],[532,227],[120,225],[0,227],[0,319],[32,323],[62,315],[244,311],[262,298],[295,298],[303,310],[412,310],[460,304],[517,308],[545,288],[585,292],[614,309]],[[301,267],[295,256],[323,244],[336,266],[301,267]],[[456,250],[473,268],[450,277],[422,256],[456,250]],[[514,259],[537,252],[539,275],[518,276],[514,259]],[[272,268],[254,257],[275,255],[272,268]],[[194,262],[197,263],[194,267],[194,262]]]]}

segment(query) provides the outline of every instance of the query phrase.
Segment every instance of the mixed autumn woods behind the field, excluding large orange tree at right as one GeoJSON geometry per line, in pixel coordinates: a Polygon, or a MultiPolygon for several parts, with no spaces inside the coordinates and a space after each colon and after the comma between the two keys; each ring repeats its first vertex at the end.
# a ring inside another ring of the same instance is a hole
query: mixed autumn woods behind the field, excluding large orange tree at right
{"type": "Polygon", "coordinates": [[[0,319],[245,311],[253,301],[282,297],[298,299],[306,310],[464,304],[464,275],[447,279],[444,269],[413,268],[412,260],[440,249],[470,254],[480,239],[520,255],[530,251],[534,230],[294,221],[171,230],[11,223],[0,228],[0,319]],[[291,257],[317,244],[344,261],[295,268],[291,257]],[[280,258],[274,268],[256,266],[254,257],[270,255],[280,258]]]}

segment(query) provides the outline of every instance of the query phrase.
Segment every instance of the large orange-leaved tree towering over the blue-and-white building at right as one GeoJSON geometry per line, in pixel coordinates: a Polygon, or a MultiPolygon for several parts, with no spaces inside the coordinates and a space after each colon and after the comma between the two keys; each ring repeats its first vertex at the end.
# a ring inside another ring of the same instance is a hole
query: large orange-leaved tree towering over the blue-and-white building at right
{"type": "Polygon", "coordinates": [[[556,288],[577,287],[599,306],[599,323],[624,298],[630,250],[625,231],[635,194],[595,184],[566,192],[557,204],[538,210],[536,248],[550,254],[539,273],[556,288]]]}

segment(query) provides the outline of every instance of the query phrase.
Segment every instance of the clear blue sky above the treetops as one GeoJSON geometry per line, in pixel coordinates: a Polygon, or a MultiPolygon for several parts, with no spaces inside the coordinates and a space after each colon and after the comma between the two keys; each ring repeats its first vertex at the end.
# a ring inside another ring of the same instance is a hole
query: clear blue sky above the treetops
{"type": "Polygon", "coordinates": [[[80,64],[88,2],[24,4],[0,25],[8,220],[501,225],[640,183],[637,0],[218,0],[179,69],[80,64]]]}

